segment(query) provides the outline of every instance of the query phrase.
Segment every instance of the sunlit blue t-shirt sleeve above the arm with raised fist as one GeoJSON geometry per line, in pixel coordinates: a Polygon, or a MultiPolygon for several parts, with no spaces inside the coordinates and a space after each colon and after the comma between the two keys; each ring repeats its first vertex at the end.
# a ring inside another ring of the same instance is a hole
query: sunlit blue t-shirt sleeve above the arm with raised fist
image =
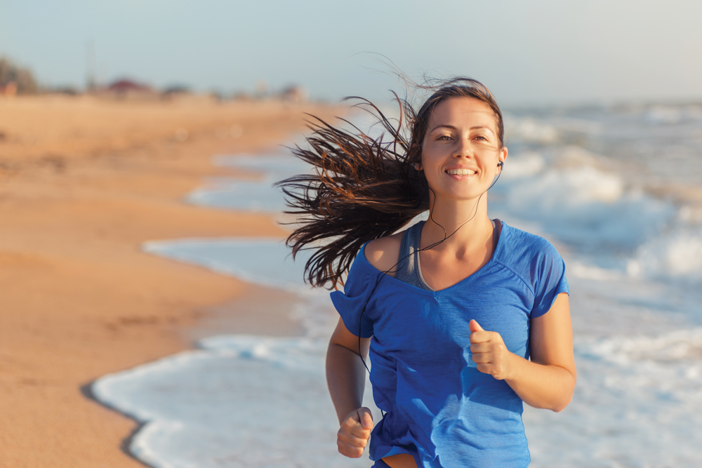
{"type": "Polygon", "coordinates": [[[534,285],[534,307],[531,309],[532,319],[548,312],[557,295],[570,293],[565,262],[554,246],[548,242],[545,244],[533,265],[536,269],[533,275],[536,278],[536,284],[534,285]]]}

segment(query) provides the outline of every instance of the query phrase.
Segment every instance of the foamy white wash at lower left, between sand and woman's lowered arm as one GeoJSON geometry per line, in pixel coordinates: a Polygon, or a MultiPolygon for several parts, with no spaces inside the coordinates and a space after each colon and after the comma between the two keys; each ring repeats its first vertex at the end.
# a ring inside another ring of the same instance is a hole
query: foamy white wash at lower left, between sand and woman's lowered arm
{"type": "MultiPolygon", "coordinates": [[[[200,345],[93,384],[99,401],[143,422],[130,446],[140,460],[157,468],[368,465],[336,450],[326,340],[232,335],[200,345]]],[[[364,404],[379,420],[372,401],[364,404]]]]}

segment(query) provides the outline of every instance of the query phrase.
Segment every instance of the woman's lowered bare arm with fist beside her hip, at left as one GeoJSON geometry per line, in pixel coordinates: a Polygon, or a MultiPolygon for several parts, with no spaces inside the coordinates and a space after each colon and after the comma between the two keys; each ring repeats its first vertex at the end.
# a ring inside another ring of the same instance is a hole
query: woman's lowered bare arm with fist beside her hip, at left
{"type": "MultiPolygon", "coordinates": [[[[361,338],[364,359],[370,343],[370,338],[361,338]]],[[[339,319],[326,351],[326,382],[341,426],[336,444],[339,453],[351,458],[363,455],[373,429],[371,410],[362,407],[366,369],[358,355],[358,344],[359,338],[339,319]]]]}

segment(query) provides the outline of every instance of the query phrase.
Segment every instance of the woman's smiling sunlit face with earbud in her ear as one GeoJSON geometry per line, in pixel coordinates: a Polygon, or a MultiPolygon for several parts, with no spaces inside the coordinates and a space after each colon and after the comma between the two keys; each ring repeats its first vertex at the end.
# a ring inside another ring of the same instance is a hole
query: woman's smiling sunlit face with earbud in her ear
{"type": "Polygon", "coordinates": [[[474,98],[449,98],[434,108],[418,169],[437,196],[472,200],[487,191],[507,158],[496,119],[489,105],[474,98]]]}

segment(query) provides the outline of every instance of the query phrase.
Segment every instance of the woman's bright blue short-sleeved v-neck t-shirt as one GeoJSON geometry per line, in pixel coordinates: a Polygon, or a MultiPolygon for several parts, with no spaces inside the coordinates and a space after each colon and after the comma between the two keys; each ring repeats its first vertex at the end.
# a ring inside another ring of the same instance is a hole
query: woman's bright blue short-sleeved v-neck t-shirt
{"type": "Polygon", "coordinates": [[[477,370],[468,322],[496,331],[529,359],[529,322],[568,292],[565,265],[545,239],[503,229],[489,262],[459,283],[430,291],[383,275],[364,255],[345,293],[331,300],[348,330],[371,337],[373,399],[385,417],[371,434],[371,460],[413,455],[418,467],[527,467],[522,399],[477,370]]]}

